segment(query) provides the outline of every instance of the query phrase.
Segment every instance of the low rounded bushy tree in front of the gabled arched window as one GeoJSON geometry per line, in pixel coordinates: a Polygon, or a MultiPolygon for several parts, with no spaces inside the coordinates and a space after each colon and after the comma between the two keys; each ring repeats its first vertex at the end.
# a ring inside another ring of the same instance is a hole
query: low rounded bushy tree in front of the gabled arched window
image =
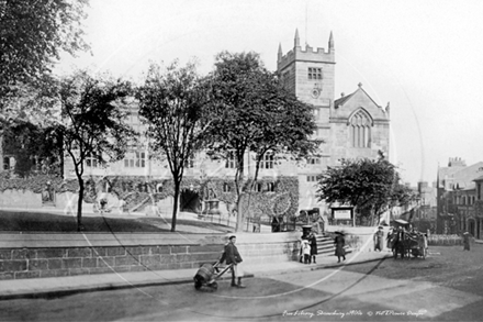
{"type": "Polygon", "coordinates": [[[370,216],[371,222],[415,198],[408,187],[400,184],[395,166],[382,154],[377,160],[342,159],[341,166],[328,167],[319,176],[317,186],[319,201],[353,206],[361,216],[370,216]]]}

